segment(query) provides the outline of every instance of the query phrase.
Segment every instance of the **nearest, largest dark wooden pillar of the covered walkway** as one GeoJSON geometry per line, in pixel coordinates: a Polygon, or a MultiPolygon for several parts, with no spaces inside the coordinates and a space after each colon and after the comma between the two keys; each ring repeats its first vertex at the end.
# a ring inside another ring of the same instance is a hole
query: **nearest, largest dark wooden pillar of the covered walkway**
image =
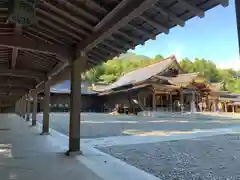
{"type": "MultiPolygon", "coordinates": [[[[76,59],[76,58],[75,58],[76,59]]],[[[71,64],[71,95],[70,95],[70,121],[69,121],[69,149],[66,155],[80,151],[80,125],[81,125],[81,72],[86,65],[86,55],[81,53],[80,58],[71,64]]]]}

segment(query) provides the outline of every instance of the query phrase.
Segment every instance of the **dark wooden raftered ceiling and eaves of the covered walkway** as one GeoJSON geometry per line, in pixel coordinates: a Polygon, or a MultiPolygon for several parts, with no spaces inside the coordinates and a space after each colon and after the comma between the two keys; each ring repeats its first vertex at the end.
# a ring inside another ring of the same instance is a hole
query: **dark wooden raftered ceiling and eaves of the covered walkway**
{"type": "Polygon", "coordinates": [[[184,27],[195,16],[228,0],[40,0],[37,22],[9,23],[0,3],[0,105],[11,106],[29,90],[69,75],[81,52],[87,67],[118,56],[156,35],[184,27]]]}

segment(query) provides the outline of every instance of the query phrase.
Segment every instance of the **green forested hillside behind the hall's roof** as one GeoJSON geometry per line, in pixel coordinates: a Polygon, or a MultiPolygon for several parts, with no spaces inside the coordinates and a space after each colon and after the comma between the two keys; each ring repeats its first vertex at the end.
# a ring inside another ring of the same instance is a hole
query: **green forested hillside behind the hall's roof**
{"type": "MultiPolygon", "coordinates": [[[[112,83],[127,72],[161,59],[163,59],[161,55],[157,55],[155,58],[149,58],[134,53],[127,53],[87,71],[82,75],[82,78],[90,83],[112,83]]],[[[240,93],[240,77],[239,79],[237,78],[238,75],[240,75],[240,71],[218,69],[210,60],[201,58],[191,60],[184,58],[180,60],[180,65],[186,72],[199,72],[210,82],[223,82],[230,92],[240,93]]]]}

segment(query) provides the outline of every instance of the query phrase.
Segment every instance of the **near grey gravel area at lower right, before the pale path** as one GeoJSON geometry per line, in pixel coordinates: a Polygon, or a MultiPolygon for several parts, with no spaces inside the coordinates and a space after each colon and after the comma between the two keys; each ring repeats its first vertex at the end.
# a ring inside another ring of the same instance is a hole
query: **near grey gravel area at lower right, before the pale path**
{"type": "Polygon", "coordinates": [[[163,180],[239,180],[240,135],[99,148],[163,180]]]}

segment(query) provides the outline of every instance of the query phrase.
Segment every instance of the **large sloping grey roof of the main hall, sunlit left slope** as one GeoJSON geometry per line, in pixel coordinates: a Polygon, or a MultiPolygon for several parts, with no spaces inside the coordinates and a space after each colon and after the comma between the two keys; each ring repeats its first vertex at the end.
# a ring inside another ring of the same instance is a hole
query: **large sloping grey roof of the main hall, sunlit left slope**
{"type": "Polygon", "coordinates": [[[140,69],[131,71],[122,77],[120,77],[116,82],[112,83],[104,90],[110,90],[117,87],[125,86],[128,84],[140,83],[151,78],[154,75],[157,75],[167,69],[173,62],[176,62],[175,56],[170,56],[166,59],[160,60],[154,64],[145,66],[140,69]]]}

